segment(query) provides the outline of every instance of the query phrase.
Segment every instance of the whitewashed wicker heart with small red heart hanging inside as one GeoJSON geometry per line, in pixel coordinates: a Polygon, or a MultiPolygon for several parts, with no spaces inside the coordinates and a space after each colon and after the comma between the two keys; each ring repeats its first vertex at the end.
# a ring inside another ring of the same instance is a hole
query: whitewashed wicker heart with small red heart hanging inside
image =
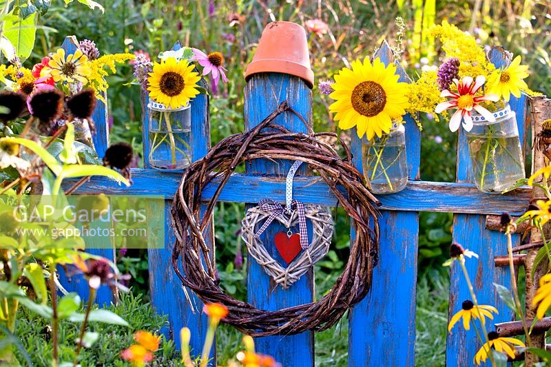
{"type": "MultiPolygon", "coordinates": [[[[287,233],[282,232],[281,234],[284,235],[285,239],[277,240],[274,238],[275,247],[278,248],[280,255],[288,263],[287,268],[285,268],[272,258],[260,238],[255,237],[255,233],[271,215],[270,211],[265,211],[260,205],[247,210],[247,215],[241,221],[241,237],[247,245],[249,255],[262,266],[262,269],[273,278],[276,284],[283,289],[288,289],[291,284],[299,280],[306,271],[311,269],[313,264],[321,260],[329,251],[331,236],[333,235],[333,218],[331,218],[331,213],[320,205],[304,205],[305,218],[312,223],[312,235],[309,236],[311,238],[309,238],[308,247],[306,249],[300,247],[300,237],[296,233],[289,237],[287,233]],[[291,240],[293,236],[296,237],[291,240]],[[280,243],[279,247],[278,242],[280,243]],[[293,244],[293,242],[297,243],[293,244]],[[294,256],[291,256],[293,253],[289,249],[289,244],[294,249],[293,251],[298,251],[294,256]],[[288,255],[287,251],[289,251],[288,255]]],[[[299,224],[298,210],[292,210],[290,213],[280,213],[273,220],[280,222],[287,229],[296,227],[299,224]]],[[[277,233],[276,237],[278,235],[280,233],[277,233]]]]}

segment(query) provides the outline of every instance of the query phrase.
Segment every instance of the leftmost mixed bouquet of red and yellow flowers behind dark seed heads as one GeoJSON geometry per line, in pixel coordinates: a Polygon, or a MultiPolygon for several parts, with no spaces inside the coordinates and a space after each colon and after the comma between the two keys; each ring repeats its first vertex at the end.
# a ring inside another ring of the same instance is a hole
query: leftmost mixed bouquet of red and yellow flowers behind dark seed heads
{"type": "MultiPolygon", "coordinates": [[[[105,102],[105,76],[116,72],[116,63],[132,59],[132,54],[100,56],[94,41],[83,40],[72,54],[63,48],[43,57],[31,69],[24,67],[16,57],[10,65],[0,65],[0,81],[5,89],[14,92],[25,102],[15,117],[30,117],[19,128],[18,120],[4,125],[6,134],[30,132],[39,135],[60,136],[67,123],[72,123],[75,138],[94,149],[91,118],[96,99],[105,102]],[[105,69],[108,70],[105,70],[105,69]]],[[[20,120],[20,119],[19,119],[20,120]]]]}

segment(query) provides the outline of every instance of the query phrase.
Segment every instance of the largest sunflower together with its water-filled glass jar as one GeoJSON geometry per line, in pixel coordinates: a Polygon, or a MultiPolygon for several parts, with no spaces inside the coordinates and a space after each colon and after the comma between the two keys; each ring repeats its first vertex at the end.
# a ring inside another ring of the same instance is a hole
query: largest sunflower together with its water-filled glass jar
{"type": "MultiPolygon", "coordinates": [[[[406,187],[406,140],[402,116],[408,101],[395,65],[380,59],[356,60],[334,76],[329,106],[341,129],[356,127],[363,139],[362,164],[373,193],[393,193],[406,187]]],[[[326,85],[322,90],[328,89],[326,85]]]]}

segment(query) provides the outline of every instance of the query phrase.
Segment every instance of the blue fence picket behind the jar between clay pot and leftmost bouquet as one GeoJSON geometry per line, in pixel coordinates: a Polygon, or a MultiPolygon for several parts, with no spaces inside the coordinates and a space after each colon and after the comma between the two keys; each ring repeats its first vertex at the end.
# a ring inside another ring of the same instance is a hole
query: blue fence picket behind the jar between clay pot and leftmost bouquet
{"type": "MultiPolygon", "coordinates": [[[[174,45],[173,50],[181,48],[180,42],[174,45]]],[[[205,81],[202,81],[202,86],[207,87],[205,81]]],[[[143,93],[143,151],[144,151],[144,167],[149,168],[149,124],[147,122],[147,94],[143,93]]],[[[210,123],[209,123],[209,96],[199,94],[191,101],[191,153],[193,160],[199,160],[210,148],[210,123]]],[[[154,171],[152,170],[152,173],[154,171]]],[[[160,172],[161,175],[169,173],[160,172]]],[[[162,179],[161,179],[162,180],[162,179]]],[[[134,182],[134,189],[140,189],[138,182],[134,182]]],[[[143,185],[141,189],[149,190],[149,184],[143,185]]],[[[205,341],[207,332],[208,319],[202,314],[202,302],[194,295],[193,291],[188,290],[191,302],[189,305],[185,293],[182,290],[182,283],[176,277],[171,266],[172,248],[176,242],[174,229],[171,227],[171,212],[172,207],[171,197],[174,194],[171,192],[165,193],[165,248],[164,249],[149,249],[149,291],[151,295],[152,305],[158,313],[168,315],[169,326],[163,332],[167,337],[174,340],[176,348],[180,348],[180,328],[187,326],[191,330],[191,355],[200,355],[202,344],[205,341]]],[[[160,208],[159,208],[160,209],[160,208]]],[[[205,208],[203,208],[204,210],[205,208]]],[[[160,209],[161,210],[161,209],[160,209]]],[[[207,229],[205,242],[207,246],[214,249],[212,227],[207,229]]],[[[214,254],[214,251],[211,253],[214,254]]]]}

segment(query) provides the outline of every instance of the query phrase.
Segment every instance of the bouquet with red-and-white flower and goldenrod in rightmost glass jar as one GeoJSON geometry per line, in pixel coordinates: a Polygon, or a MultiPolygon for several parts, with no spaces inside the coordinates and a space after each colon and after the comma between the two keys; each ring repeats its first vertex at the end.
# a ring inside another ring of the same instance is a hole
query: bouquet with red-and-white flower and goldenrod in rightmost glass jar
{"type": "Polygon", "coordinates": [[[408,85],[406,110],[414,118],[418,112],[447,118],[451,132],[463,127],[477,187],[506,191],[524,178],[516,116],[508,102],[521,93],[535,94],[523,80],[528,66],[516,56],[510,65],[496,68],[474,36],[446,21],[433,26],[430,35],[439,39],[446,59],[408,85]]]}

